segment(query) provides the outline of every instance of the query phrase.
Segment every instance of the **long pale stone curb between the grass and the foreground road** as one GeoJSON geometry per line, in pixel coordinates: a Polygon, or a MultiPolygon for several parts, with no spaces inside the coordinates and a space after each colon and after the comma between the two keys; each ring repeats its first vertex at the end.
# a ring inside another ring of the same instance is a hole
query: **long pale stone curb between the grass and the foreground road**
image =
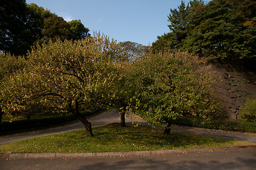
{"type": "Polygon", "coordinates": [[[72,159],[88,157],[129,157],[129,156],[148,156],[154,154],[179,154],[187,152],[209,152],[230,149],[256,149],[256,145],[231,146],[231,147],[206,147],[194,149],[172,149],[157,151],[138,151],[138,152],[102,152],[102,153],[30,153],[30,154],[0,154],[0,159],[72,159]]]}

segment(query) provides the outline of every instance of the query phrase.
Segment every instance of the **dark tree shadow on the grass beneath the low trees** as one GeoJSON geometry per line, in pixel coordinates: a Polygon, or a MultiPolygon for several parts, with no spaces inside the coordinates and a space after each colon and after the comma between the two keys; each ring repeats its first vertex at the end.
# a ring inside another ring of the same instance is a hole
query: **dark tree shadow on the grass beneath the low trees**
{"type": "MultiPolygon", "coordinates": [[[[86,137],[86,136],[84,136],[86,137]]],[[[136,149],[179,149],[188,147],[214,147],[225,145],[229,140],[214,137],[188,135],[179,132],[171,132],[163,135],[162,130],[145,127],[133,127],[127,125],[120,127],[113,123],[101,128],[94,128],[94,141],[102,145],[111,145],[119,142],[120,145],[133,145],[136,149]]]]}

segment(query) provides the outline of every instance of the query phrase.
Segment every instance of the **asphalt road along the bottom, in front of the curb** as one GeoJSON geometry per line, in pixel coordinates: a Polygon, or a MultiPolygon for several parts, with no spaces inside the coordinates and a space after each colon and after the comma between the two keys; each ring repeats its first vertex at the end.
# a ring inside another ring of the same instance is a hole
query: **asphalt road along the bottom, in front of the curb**
{"type": "Polygon", "coordinates": [[[256,149],[189,152],[140,157],[94,157],[82,159],[0,159],[0,169],[256,169],[256,149]]]}

